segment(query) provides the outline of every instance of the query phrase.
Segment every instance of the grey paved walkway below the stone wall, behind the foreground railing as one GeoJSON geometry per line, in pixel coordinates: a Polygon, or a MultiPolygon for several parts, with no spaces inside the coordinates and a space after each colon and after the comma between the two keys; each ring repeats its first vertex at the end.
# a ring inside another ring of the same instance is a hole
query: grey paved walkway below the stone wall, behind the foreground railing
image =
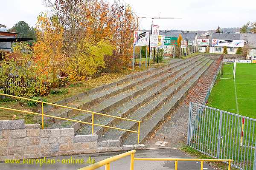
{"type": "MultiPolygon", "coordinates": [[[[101,153],[101,154],[82,154],[72,156],[74,159],[84,159],[85,161],[91,157],[96,162],[111,156],[118,155],[122,152],[101,153]]],[[[180,150],[174,148],[154,149],[154,150],[137,150],[135,157],[154,157],[154,158],[191,158],[180,150]]],[[[70,159],[70,156],[58,156],[47,159],[55,159],[55,164],[6,164],[0,163],[0,170],[76,170],[85,167],[88,164],[62,164],[62,160],[70,159]]],[[[22,162],[22,160],[20,160],[22,162]]],[[[111,170],[130,170],[130,157],[125,157],[119,161],[111,163],[111,170]]],[[[178,162],[178,170],[199,170],[200,162],[197,161],[180,161],[178,162]]],[[[104,170],[104,167],[98,170],[104,170]]],[[[135,161],[134,170],[174,170],[173,161],[135,161]]],[[[204,170],[214,170],[208,164],[204,163],[204,170]]]]}

